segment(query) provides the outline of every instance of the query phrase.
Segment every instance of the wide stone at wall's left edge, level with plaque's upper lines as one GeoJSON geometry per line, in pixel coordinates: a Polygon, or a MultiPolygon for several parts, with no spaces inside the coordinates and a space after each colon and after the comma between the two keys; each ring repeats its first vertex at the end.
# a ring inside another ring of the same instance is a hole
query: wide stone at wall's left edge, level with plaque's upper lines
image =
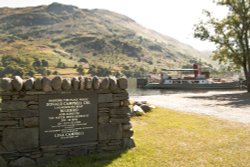
{"type": "Polygon", "coordinates": [[[25,110],[25,109],[27,109],[27,104],[24,101],[8,101],[2,103],[3,111],[25,110]]]}

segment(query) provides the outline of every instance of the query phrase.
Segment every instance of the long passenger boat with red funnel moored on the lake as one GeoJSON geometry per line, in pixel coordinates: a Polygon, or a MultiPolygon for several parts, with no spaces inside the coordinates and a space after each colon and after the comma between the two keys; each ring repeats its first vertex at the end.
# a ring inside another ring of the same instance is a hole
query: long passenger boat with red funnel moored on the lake
{"type": "Polygon", "coordinates": [[[170,89],[170,90],[210,90],[210,89],[240,89],[239,81],[213,80],[209,78],[209,72],[202,72],[201,66],[194,64],[192,69],[170,69],[164,71],[193,72],[193,76],[173,78],[168,73],[161,73],[160,82],[147,83],[145,89],[170,89]]]}

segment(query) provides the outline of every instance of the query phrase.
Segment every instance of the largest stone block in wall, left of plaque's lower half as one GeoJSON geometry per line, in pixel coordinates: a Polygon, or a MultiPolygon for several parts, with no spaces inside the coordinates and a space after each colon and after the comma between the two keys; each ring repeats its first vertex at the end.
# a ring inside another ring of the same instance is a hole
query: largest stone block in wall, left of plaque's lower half
{"type": "Polygon", "coordinates": [[[8,151],[21,151],[38,147],[38,128],[5,128],[2,144],[8,151]]]}

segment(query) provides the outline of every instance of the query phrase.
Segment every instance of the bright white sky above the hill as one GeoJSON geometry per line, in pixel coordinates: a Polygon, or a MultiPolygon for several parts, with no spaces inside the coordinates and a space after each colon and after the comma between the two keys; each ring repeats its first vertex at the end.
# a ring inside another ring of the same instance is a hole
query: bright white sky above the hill
{"type": "Polygon", "coordinates": [[[212,43],[193,38],[193,27],[203,17],[202,10],[209,10],[217,17],[222,17],[226,12],[217,7],[213,0],[0,0],[0,7],[48,5],[53,2],[120,13],[146,28],[200,51],[215,49],[212,43]]]}

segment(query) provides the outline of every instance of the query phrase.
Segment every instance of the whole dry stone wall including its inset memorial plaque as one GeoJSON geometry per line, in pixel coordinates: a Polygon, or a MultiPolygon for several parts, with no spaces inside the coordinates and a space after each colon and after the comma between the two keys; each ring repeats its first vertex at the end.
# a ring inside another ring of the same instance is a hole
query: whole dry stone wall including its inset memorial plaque
{"type": "Polygon", "coordinates": [[[134,147],[126,78],[1,79],[0,166],[134,147]]]}

